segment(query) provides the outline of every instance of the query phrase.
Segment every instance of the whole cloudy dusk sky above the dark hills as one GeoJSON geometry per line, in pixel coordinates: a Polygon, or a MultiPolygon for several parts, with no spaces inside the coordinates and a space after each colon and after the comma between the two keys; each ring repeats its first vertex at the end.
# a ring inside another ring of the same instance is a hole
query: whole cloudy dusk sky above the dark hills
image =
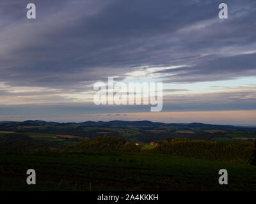
{"type": "Polygon", "coordinates": [[[256,1],[1,0],[0,71],[0,120],[255,126],[256,1]],[[95,105],[108,77],[163,82],[163,110],[95,105]]]}

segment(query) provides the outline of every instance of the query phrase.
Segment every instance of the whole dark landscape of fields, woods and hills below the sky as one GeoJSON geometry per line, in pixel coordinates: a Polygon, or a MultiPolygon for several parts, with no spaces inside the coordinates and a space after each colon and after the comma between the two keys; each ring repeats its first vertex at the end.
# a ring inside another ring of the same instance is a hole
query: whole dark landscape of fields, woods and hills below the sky
{"type": "Polygon", "coordinates": [[[0,191],[256,191],[256,143],[236,140],[255,137],[255,128],[91,124],[0,124],[0,191]],[[35,186],[26,184],[31,168],[35,186]]]}

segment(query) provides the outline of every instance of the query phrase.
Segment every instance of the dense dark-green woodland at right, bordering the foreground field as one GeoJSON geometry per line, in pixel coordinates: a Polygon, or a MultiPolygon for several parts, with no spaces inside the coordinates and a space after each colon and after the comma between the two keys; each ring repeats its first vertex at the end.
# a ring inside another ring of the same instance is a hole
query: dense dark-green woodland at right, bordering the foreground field
{"type": "Polygon", "coordinates": [[[244,164],[253,163],[252,161],[256,158],[255,142],[211,142],[168,138],[158,143],[159,145],[154,149],[143,151],[244,164]]]}

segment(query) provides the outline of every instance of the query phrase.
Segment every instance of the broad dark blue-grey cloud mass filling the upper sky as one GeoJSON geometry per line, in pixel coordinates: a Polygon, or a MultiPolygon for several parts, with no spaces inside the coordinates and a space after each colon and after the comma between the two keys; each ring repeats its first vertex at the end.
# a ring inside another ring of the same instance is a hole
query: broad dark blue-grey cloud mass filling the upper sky
{"type": "Polygon", "coordinates": [[[218,18],[221,1],[34,1],[36,20],[26,19],[29,1],[13,2],[0,3],[0,81],[9,85],[78,89],[136,66],[184,64],[167,80],[255,75],[254,56],[241,55],[255,48],[253,0],[226,1],[228,20],[218,18]]]}

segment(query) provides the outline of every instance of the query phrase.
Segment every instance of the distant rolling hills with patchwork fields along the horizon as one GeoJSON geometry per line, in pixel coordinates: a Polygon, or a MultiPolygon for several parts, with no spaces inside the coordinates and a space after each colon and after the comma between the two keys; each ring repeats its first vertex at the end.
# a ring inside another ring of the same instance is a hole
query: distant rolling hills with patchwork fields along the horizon
{"type": "Polygon", "coordinates": [[[44,120],[26,120],[24,122],[0,122],[0,136],[8,133],[28,135],[34,140],[58,140],[74,143],[79,138],[94,138],[96,136],[115,136],[131,142],[154,142],[167,138],[188,138],[193,140],[211,141],[247,141],[256,140],[256,128],[223,126],[213,124],[162,123],[142,121],[113,120],[109,122],[47,122],[44,120]],[[48,138],[48,139],[47,139],[48,138]]]}

